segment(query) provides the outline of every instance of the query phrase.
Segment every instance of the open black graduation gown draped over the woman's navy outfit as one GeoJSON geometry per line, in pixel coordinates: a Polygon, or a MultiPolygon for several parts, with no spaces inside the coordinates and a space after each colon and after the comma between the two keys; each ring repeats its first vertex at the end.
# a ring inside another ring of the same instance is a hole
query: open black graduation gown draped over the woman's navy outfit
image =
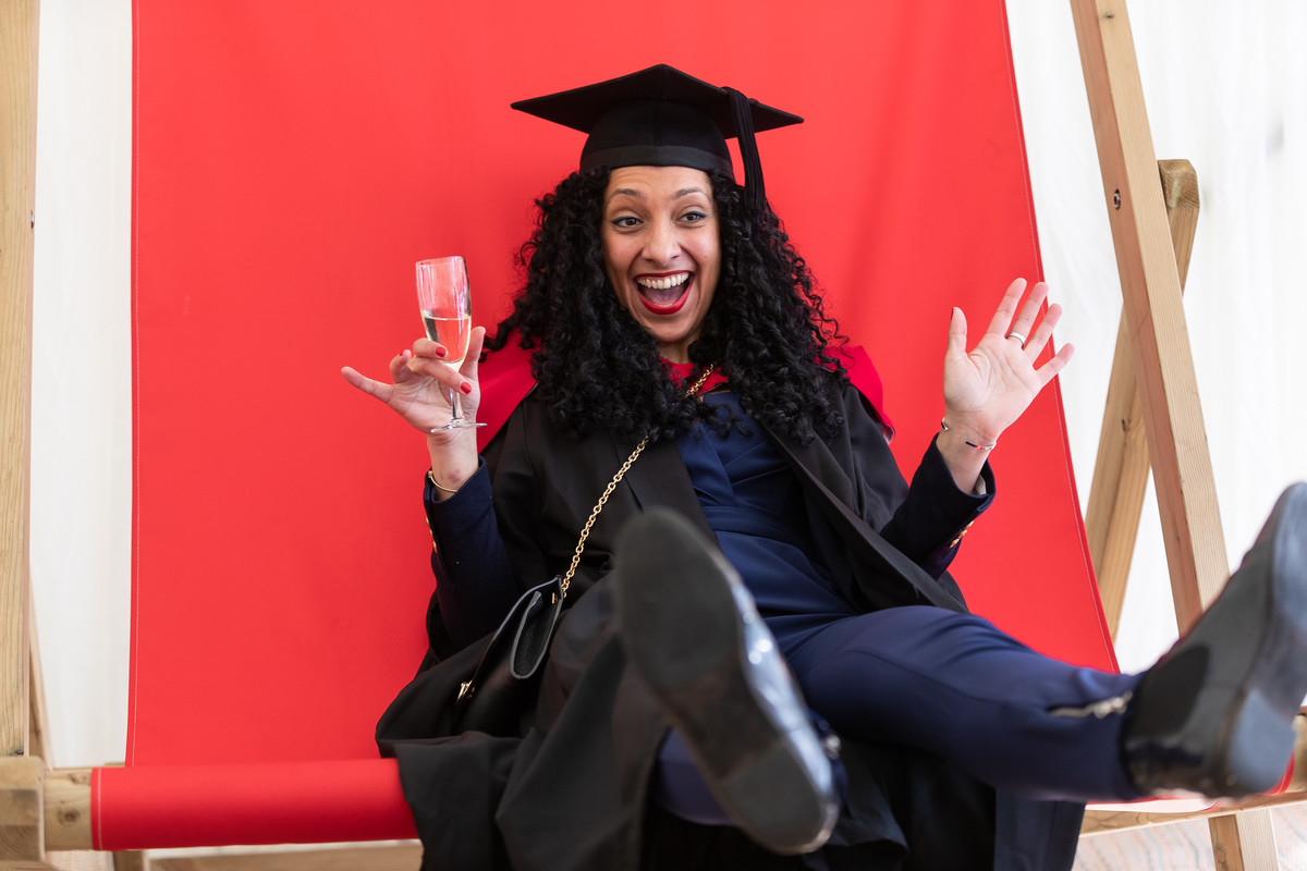
{"type": "MultiPolygon", "coordinates": [[[[844,405],[848,423],[831,443],[799,445],[772,434],[802,482],[818,560],[860,609],[965,611],[942,571],[955,546],[936,542],[941,526],[961,528],[970,518],[928,516],[940,500],[914,499],[911,512],[923,513],[908,517],[899,547],[885,542],[876,530],[908,487],[867,401],[848,387],[844,405]],[[914,542],[916,529],[932,530],[929,541],[914,542]]],[[[597,495],[633,447],[608,434],[561,435],[535,394],[514,411],[484,456],[501,537],[523,589],[566,569],[597,495]]],[[[992,478],[987,483],[992,491],[992,478]]],[[[676,445],[648,448],[591,531],[521,736],[450,734],[451,701],[484,645],[452,650],[433,597],[433,649],[376,733],[382,752],[399,759],[423,868],[1070,867],[1084,806],[996,794],[903,747],[844,743],[844,810],[830,844],[812,857],[771,857],[733,829],[693,825],[647,802],[668,723],[626,669],[604,575],[623,522],[654,505],[678,511],[711,535],[676,445]]],[[[668,594],[676,595],[674,580],[668,594]]]]}

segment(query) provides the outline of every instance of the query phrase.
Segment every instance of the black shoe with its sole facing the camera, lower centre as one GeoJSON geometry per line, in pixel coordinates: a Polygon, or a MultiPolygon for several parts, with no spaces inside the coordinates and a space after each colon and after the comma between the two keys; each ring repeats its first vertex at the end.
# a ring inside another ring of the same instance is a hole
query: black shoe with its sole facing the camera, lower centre
{"type": "Polygon", "coordinates": [[[735,569],[668,511],[629,522],[616,551],[626,656],[721,810],[774,853],[819,847],[839,812],[830,761],[838,742],[818,738],[735,569]]]}

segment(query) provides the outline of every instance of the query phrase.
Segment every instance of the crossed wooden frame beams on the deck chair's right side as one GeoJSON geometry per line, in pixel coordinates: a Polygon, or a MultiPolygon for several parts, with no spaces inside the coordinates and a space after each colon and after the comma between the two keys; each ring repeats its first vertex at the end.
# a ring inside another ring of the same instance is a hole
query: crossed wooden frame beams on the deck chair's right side
{"type": "MultiPolygon", "coordinates": [[[[1187,162],[1163,162],[1158,184],[1124,0],[1072,0],[1072,12],[1123,295],[1085,518],[1090,552],[1115,635],[1151,461],[1175,616],[1184,631],[1221,592],[1230,565],[1180,298],[1197,229],[1197,182],[1187,162]]],[[[1277,868],[1266,808],[1307,800],[1302,789],[1294,784],[1285,795],[1205,814],[1217,867],[1277,868]]],[[[1090,814],[1084,831],[1175,819],[1090,814]]]]}

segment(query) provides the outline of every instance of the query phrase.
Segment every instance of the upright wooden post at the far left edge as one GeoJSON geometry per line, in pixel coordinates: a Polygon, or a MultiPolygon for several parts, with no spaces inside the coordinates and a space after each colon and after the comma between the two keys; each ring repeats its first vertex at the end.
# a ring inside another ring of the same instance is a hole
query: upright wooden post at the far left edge
{"type": "Polygon", "coordinates": [[[37,0],[0,4],[0,753],[27,748],[37,0]]]}

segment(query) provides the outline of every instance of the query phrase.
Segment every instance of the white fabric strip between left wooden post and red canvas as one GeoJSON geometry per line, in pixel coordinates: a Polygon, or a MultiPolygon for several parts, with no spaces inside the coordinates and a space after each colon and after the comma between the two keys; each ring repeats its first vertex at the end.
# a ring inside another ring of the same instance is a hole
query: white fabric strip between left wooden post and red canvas
{"type": "Polygon", "coordinates": [[[41,4],[31,575],[63,767],[127,743],[131,25],[131,0],[41,4]]]}

